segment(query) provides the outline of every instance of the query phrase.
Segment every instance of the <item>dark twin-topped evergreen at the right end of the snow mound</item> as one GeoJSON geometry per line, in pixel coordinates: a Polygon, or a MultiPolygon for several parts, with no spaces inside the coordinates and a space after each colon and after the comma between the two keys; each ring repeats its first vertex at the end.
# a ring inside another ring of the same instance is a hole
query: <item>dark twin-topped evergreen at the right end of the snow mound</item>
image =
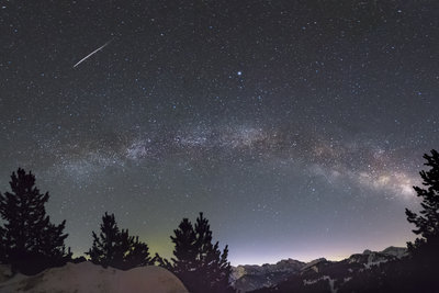
{"type": "Polygon", "coordinates": [[[228,247],[221,253],[218,243],[212,244],[212,230],[203,213],[200,213],[194,226],[183,218],[171,240],[175,257],[170,268],[168,262],[168,268],[190,292],[233,292],[228,284],[232,272],[227,261],[228,247]]]}

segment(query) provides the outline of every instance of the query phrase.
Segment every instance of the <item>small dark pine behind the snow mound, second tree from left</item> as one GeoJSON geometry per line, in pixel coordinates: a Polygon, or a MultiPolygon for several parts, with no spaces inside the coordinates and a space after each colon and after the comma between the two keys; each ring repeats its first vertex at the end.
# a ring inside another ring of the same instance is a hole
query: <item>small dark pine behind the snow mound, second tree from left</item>
{"type": "Polygon", "coordinates": [[[92,232],[92,237],[93,245],[86,255],[95,264],[121,270],[154,264],[148,246],[138,236],[130,236],[127,229],[120,230],[114,214],[102,216],[101,233],[98,236],[92,232]]]}

